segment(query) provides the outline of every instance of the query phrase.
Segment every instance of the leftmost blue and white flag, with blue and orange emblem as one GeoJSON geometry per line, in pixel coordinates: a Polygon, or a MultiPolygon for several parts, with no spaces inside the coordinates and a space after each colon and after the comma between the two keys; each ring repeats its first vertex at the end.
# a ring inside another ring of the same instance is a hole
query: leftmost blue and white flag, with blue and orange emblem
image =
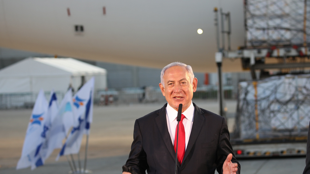
{"type": "Polygon", "coordinates": [[[38,151],[42,146],[42,132],[45,121],[48,116],[48,103],[41,89],[34,104],[33,111],[28,123],[28,128],[24,140],[24,146],[21,157],[17,163],[16,169],[22,169],[31,166],[33,170],[36,165],[42,165],[42,160],[38,159],[38,151]]]}

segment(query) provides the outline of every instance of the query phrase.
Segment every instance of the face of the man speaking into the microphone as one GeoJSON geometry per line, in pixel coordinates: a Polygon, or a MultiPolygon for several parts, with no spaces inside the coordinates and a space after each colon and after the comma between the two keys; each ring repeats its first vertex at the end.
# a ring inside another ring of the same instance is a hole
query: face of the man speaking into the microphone
{"type": "Polygon", "coordinates": [[[160,83],[159,87],[168,104],[178,111],[179,104],[182,103],[182,112],[185,111],[191,104],[193,92],[197,89],[197,78],[191,83],[186,68],[174,66],[165,71],[163,79],[164,84],[160,83]]]}

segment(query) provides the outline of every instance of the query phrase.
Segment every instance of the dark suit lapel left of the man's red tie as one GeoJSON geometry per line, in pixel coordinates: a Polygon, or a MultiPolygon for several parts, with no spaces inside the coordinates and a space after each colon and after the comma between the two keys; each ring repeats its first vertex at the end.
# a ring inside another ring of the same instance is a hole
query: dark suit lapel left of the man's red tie
{"type": "Polygon", "coordinates": [[[155,122],[157,124],[160,134],[162,135],[162,139],[165,142],[167,149],[169,150],[171,156],[175,158],[175,150],[173,148],[171,137],[168,132],[167,119],[166,119],[166,107],[167,107],[167,104],[165,104],[164,107],[162,107],[159,110],[158,116],[155,118],[155,122]]]}

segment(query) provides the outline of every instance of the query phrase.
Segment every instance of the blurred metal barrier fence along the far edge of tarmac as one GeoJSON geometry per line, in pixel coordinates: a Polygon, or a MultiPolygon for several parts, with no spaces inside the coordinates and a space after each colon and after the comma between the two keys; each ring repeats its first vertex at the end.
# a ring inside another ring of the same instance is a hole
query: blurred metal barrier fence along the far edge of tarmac
{"type": "MultiPolygon", "coordinates": [[[[233,87],[223,87],[224,98],[234,98],[233,87]]],[[[63,99],[63,92],[55,92],[58,102],[63,99]]],[[[193,94],[196,99],[217,99],[216,86],[204,86],[197,88],[193,94]]],[[[38,93],[11,93],[0,94],[0,109],[33,108],[38,93]]],[[[50,99],[50,92],[45,92],[47,100],[50,99]]],[[[148,103],[166,101],[158,87],[148,86],[142,88],[125,88],[122,90],[96,91],[94,94],[95,105],[118,105],[130,103],[148,103]]]]}

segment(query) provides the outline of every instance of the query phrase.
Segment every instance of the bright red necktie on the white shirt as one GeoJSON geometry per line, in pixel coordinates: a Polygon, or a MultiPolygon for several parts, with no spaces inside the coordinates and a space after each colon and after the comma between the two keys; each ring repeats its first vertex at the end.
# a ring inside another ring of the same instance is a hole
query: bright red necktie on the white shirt
{"type": "MultiPolygon", "coordinates": [[[[185,116],[181,115],[181,121],[179,123],[179,142],[178,142],[178,161],[181,164],[185,154],[185,129],[183,125],[183,119],[185,116]]],[[[176,151],[176,140],[178,135],[178,126],[175,129],[175,142],[174,142],[174,149],[176,151]]]]}

